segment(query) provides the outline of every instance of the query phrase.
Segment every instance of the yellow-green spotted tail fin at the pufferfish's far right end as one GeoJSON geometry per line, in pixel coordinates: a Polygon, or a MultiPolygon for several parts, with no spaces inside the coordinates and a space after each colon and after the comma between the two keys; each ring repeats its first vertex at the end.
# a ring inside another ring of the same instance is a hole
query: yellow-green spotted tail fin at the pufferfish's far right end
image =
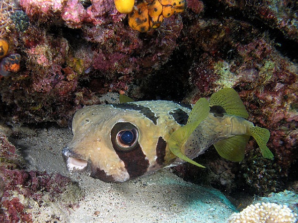
{"type": "Polygon", "coordinates": [[[260,147],[262,156],[266,159],[273,159],[274,158],[273,153],[266,146],[266,144],[270,138],[269,130],[266,128],[258,127],[258,126],[251,126],[250,134],[257,141],[257,143],[260,147]]]}

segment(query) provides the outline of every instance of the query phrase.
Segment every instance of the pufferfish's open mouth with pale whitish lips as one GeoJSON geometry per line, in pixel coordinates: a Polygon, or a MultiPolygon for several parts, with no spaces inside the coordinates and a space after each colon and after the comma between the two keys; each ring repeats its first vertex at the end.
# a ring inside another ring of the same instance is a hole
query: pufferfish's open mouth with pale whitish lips
{"type": "Polygon", "coordinates": [[[84,171],[87,169],[88,161],[83,158],[78,158],[78,155],[74,154],[69,147],[66,147],[62,151],[66,158],[66,165],[69,171],[84,171]]]}

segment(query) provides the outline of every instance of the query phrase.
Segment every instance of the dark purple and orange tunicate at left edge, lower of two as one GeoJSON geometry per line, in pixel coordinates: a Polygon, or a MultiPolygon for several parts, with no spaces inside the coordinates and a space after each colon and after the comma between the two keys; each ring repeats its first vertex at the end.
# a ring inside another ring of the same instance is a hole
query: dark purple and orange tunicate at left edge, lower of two
{"type": "Polygon", "coordinates": [[[21,56],[12,54],[2,59],[0,63],[0,75],[9,77],[12,73],[16,73],[21,68],[21,56]]]}

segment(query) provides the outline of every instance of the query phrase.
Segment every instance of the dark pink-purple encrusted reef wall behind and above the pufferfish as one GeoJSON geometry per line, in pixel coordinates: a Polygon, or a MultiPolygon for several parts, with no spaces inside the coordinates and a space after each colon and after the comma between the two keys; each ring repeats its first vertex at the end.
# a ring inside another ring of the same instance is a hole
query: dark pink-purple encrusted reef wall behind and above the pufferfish
{"type": "MultiPolygon", "coordinates": [[[[0,77],[2,122],[66,126],[74,111],[102,103],[108,92],[195,103],[232,87],[250,120],[270,130],[275,160],[262,171],[250,141],[241,166],[212,155],[201,158],[210,164],[206,175],[212,175],[205,182],[231,192],[284,189],[298,158],[296,1],[187,0],[183,13],[147,33],[132,30],[113,0],[17,2],[0,3],[7,56],[22,58],[19,72],[0,77]],[[275,185],[266,186],[251,169],[275,185]]],[[[193,168],[181,167],[181,175],[201,171],[193,168]]]]}

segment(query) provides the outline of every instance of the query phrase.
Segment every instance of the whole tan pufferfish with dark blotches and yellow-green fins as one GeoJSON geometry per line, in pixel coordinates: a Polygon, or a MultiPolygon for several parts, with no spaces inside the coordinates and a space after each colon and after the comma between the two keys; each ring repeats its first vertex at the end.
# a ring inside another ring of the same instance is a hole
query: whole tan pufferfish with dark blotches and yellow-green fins
{"type": "Polygon", "coordinates": [[[224,88],[194,106],[171,101],[93,105],[75,112],[73,140],[63,149],[67,167],[105,182],[124,182],[192,159],[214,145],[223,158],[244,159],[252,136],[263,157],[270,132],[245,118],[235,90],[224,88]]]}

